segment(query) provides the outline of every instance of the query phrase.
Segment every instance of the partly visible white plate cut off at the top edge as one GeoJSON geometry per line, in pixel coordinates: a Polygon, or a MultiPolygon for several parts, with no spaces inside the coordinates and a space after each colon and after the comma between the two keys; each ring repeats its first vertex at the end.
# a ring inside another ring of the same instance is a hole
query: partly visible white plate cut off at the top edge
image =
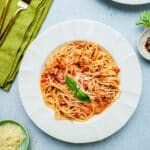
{"type": "Polygon", "coordinates": [[[128,5],[143,5],[150,3],[150,0],[112,0],[112,1],[128,5]]]}

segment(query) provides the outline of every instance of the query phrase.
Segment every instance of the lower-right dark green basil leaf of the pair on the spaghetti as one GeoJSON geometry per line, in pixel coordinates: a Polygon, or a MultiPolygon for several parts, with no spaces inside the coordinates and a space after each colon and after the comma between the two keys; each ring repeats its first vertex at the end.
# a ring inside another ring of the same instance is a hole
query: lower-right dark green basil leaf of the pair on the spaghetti
{"type": "Polygon", "coordinates": [[[80,89],[76,91],[75,96],[83,102],[90,102],[90,97],[88,96],[88,94],[84,93],[80,89]]]}

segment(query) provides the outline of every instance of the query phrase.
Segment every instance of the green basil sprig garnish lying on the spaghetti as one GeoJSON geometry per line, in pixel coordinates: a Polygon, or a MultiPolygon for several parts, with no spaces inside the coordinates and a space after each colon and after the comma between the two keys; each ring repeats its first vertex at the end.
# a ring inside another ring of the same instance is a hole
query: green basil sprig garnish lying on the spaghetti
{"type": "Polygon", "coordinates": [[[70,90],[73,91],[76,98],[78,98],[80,101],[83,102],[90,102],[90,97],[88,96],[88,94],[81,91],[81,89],[77,87],[77,82],[73,78],[67,75],[65,80],[67,86],[69,87],[70,90]]]}

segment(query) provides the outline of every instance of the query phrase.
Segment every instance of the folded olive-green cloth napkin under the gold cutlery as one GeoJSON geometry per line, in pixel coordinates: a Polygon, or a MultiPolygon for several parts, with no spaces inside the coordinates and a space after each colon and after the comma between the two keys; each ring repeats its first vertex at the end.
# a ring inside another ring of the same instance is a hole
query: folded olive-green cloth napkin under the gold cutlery
{"type": "MultiPolygon", "coordinates": [[[[0,16],[5,2],[6,0],[0,0],[0,16]]],[[[17,2],[18,0],[11,0],[4,28],[17,9],[17,2]]],[[[0,88],[6,91],[10,89],[24,52],[36,37],[51,4],[52,0],[31,0],[28,9],[19,14],[0,46],[0,88]]]]}

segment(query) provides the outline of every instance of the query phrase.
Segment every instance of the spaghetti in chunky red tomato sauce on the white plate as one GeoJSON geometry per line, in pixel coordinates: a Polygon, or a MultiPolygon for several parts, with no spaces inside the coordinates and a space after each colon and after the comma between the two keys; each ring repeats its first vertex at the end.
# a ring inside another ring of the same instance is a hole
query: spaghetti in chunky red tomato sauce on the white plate
{"type": "Polygon", "coordinates": [[[94,42],[64,44],[48,58],[40,86],[46,105],[57,119],[86,121],[103,112],[119,93],[119,68],[112,56],[94,42]],[[67,87],[71,76],[88,94],[90,102],[80,101],[67,87]]]}

